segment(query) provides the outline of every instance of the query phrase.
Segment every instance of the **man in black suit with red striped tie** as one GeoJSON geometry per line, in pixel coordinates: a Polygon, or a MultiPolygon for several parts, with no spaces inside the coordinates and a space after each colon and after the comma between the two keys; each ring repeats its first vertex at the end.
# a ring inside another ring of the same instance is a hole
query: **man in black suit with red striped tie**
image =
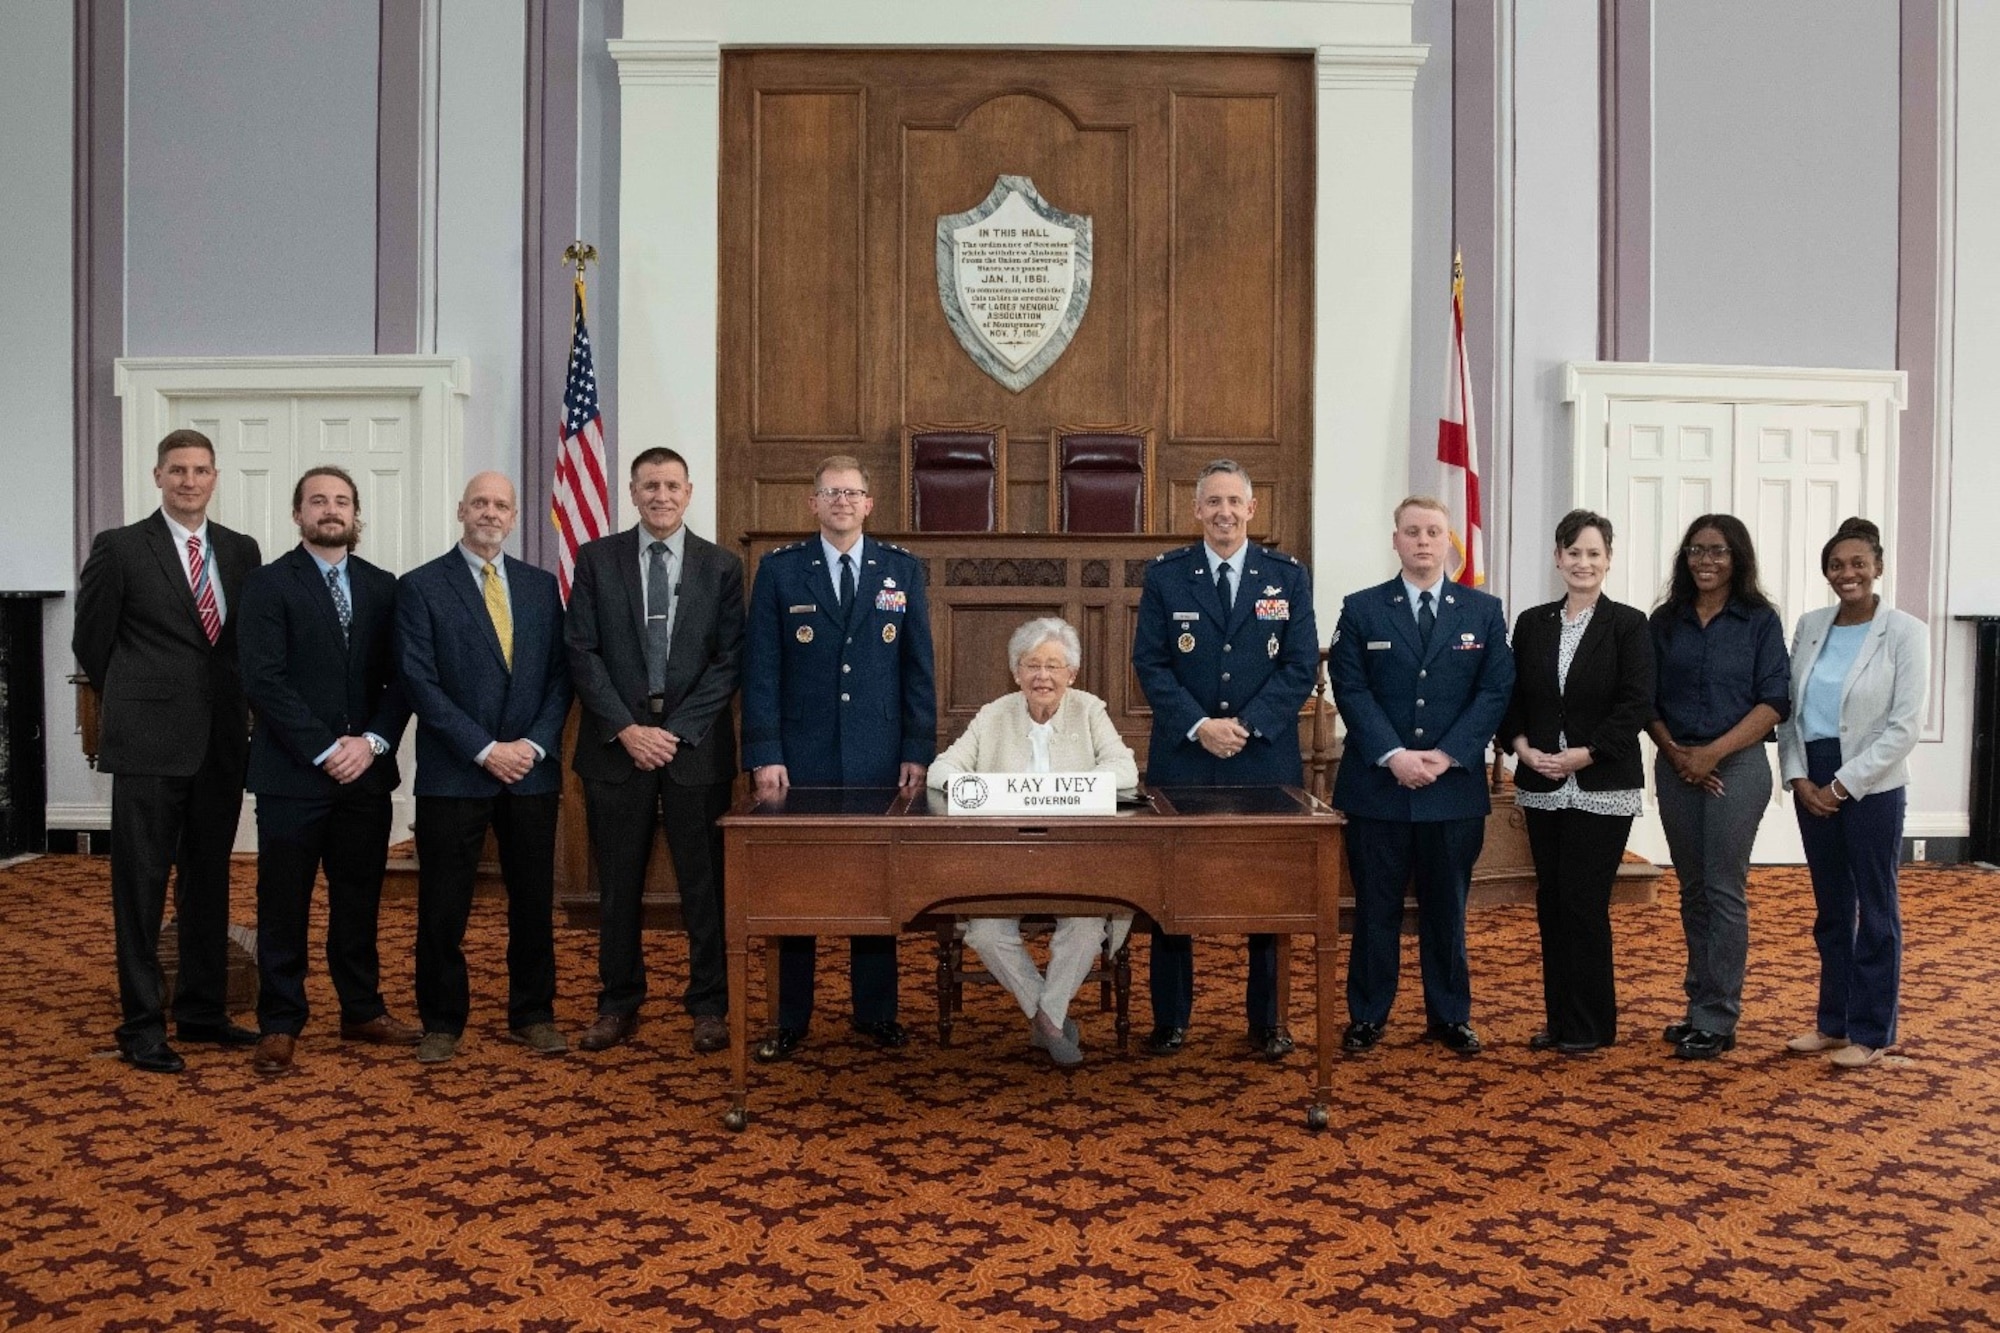
{"type": "Polygon", "coordinates": [[[166,877],[180,923],[180,1041],[238,1047],[228,1021],[230,845],[242,815],[250,719],[236,666],[244,578],[256,540],[208,520],[216,446],[200,430],[160,440],[160,508],[98,532],[76,584],[70,646],[102,699],[98,769],[112,775],[112,925],[118,1055],[150,1073],[186,1065],[166,1045],[160,919],[166,877]]]}

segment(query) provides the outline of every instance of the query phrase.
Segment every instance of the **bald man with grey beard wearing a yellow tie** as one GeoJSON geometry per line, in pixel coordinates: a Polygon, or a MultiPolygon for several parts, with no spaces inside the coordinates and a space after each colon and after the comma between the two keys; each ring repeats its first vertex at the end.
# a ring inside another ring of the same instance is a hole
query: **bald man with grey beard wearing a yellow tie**
{"type": "Polygon", "coordinates": [[[396,588],[398,669],[416,711],[416,1059],[452,1059],[466,1031],[466,919],[486,829],[500,843],[508,1031],[542,1055],[556,1031],[556,803],[570,658],[556,576],[502,554],[514,482],[480,472],[458,500],[462,540],[396,588]]]}

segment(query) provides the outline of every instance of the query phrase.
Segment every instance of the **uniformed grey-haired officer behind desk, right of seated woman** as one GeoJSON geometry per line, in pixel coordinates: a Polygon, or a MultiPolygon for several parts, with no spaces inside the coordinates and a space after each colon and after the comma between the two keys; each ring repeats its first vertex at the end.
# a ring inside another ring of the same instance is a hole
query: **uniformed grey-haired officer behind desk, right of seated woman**
{"type": "MultiPolygon", "coordinates": [[[[1202,540],[1146,568],[1132,630],[1132,671],[1152,707],[1146,783],[1254,787],[1304,781],[1298,711],[1320,675],[1312,578],[1288,554],[1250,540],[1256,494],[1228,458],[1202,468],[1194,520],[1202,540]]],[[[1154,935],[1152,1035],[1174,1055],[1194,1013],[1194,941],[1154,935]]],[[[1252,1049],[1280,1061],[1292,1033],[1278,1013],[1278,937],[1250,937],[1244,1015],[1252,1049]]]]}

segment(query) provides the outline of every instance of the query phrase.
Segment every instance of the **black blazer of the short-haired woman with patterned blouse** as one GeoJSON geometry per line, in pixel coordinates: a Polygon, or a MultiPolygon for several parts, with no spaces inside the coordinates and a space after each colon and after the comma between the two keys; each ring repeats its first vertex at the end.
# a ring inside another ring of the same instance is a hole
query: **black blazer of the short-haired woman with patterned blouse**
{"type": "MultiPolygon", "coordinates": [[[[1514,695],[1494,743],[1512,751],[1518,737],[1554,755],[1558,737],[1590,751],[1590,763],[1576,771],[1584,791],[1638,791],[1646,787],[1638,733],[1652,721],[1654,656],[1646,612],[1638,606],[1598,596],[1584,626],[1584,638],[1570,658],[1570,675],[1556,687],[1562,654],[1562,600],[1530,606],[1514,620],[1514,695]]],[[[1514,785],[1522,791],[1556,791],[1552,781],[1518,765],[1514,785]]]]}

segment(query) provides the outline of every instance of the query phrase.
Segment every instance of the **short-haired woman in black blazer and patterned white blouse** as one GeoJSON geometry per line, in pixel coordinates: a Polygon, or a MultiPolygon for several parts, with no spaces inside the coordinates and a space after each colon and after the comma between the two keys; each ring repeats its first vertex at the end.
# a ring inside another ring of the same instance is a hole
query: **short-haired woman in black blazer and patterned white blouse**
{"type": "Polygon", "coordinates": [[[1512,749],[1542,929],[1536,1051],[1580,1055],[1618,1039],[1612,881],[1640,811],[1638,733],[1652,721],[1646,612],[1604,596],[1612,524],[1576,508],[1556,524],[1566,594],[1514,622],[1514,699],[1496,743],[1512,749]]]}

